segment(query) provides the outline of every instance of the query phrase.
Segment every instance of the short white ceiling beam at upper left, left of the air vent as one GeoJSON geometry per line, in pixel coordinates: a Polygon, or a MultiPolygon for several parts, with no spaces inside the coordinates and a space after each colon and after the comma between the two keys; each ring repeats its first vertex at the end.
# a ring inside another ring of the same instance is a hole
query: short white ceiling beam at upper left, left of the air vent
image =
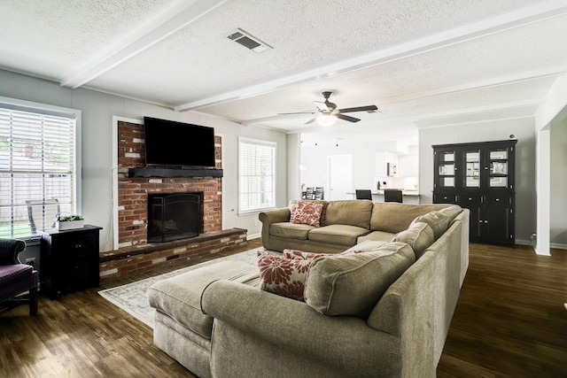
{"type": "Polygon", "coordinates": [[[213,11],[227,1],[194,0],[178,2],[167,12],[152,19],[149,24],[144,24],[131,35],[127,35],[101,54],[92,58],[77,73],[61,81],[61,87],[70,87],[72,89],[81,87],[113,67],[150,48],[155,43],[162,41],[167,36],[174,34],[182,27],[186,27],[191,22],[203,17],[206,13],[213,11]]]}

